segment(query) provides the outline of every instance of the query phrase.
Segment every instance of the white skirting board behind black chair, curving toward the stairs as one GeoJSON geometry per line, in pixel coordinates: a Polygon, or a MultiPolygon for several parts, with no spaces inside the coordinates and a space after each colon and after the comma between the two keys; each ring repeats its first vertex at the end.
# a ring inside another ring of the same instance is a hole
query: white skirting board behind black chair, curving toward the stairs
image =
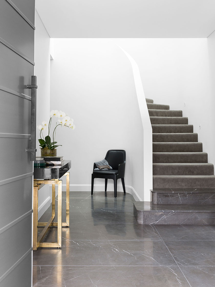
{"type": "MultiPolygon", "coordinates": [[[[86,191],[89,192],[89,195],[91,195],[91,184],[70,184],[70,191],[86,191]]],[[[142,201],[135,189],[130,185],[125,185],[126,187],[126,193],[130,193],[136,201],[142,201]]],[[[51,188],[51,185],[50,185],[51,188]]],[[[50,190],[51,191],[51,190],[50,190]]],[[[62,184],[62,191],[66,191],[66,185],[62,184]]],[[[105,191],[105,185],[104,184],[94,184],[93,191],[105,191]]],[[[114,192],[113,184],[107,184],[107,191],[114,192]]],[[[117,185],[117,192],[123,192],[122,185],[117,185]]],[[[57,190],[56,190],[57,195],[57,190]]]]}

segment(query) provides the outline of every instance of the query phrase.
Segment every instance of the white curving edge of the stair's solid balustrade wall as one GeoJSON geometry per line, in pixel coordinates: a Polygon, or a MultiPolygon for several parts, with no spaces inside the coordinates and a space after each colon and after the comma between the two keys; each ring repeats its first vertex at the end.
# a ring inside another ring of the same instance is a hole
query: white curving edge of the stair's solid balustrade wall
{"type": "Polygon", "coordinates": [[[138,104],[139,104],[140,116],[142,119],[142,127],[143,127],[144,201],[150,201],[150,195],[151,195],[150,189],[153,188],[152,126],[151,126],[150,117],[148,114],[148,108],[147,108],[147,104],[146,104],[146,100],[145,100],[144,90],[142,87],[142,80],[140,77],[140,71],[139,71],[139,67],[138,67],[137,63],[124,49],[122,49],[122,47],[120,47],[118,44],[116,44],[116,45],[128,57],[128,59],[131,63],[131,66],[132,66],[132,70],[133,70],[134,84],[135,84],[135,88],[136,88],[137,100],[138,100],[138,104]]]}

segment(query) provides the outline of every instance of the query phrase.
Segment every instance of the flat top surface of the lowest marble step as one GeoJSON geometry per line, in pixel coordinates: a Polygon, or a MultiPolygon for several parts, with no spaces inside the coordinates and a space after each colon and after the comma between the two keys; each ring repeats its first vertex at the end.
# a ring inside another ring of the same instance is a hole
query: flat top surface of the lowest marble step
{"type": "Polygon", "coordinates": [[[154,204],[138,201],[134,202],[134,206],[138,212],[215,212],[212,204],[154,204]]]}

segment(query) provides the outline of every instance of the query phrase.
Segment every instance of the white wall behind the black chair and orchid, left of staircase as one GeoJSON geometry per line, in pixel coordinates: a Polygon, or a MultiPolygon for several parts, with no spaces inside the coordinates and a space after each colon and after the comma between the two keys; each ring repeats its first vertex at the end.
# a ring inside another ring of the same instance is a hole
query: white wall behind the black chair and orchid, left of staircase
{"type": "MultiPolygon", "coordinates": [[[[63,145],[58,155],[72,160],[71,190],[90,191],[93,162],[109,149],[124,149],[126,191],[143,200],[143,128],[130,61],[109,39],[52,43],[50,108],[68,113],[76,125],[74,131],[59,127],[56,135],[63,145]]],[[[94,183],[94,190],[104,190],[104,180],[94,183]]]]}

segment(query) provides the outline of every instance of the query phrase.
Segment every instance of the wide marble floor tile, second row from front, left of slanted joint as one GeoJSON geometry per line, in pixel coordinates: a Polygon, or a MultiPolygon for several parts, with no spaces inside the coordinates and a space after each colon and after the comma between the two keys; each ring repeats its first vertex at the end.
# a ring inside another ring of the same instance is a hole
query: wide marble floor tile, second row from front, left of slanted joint
{"type": "Polygon", "coordinates": [[[177,265],[161,240],[67,240],[57,251],[37,249],[33,265],[47,265],[47,261],[59,265],[59,260],[60,265],[177,265]]]}

